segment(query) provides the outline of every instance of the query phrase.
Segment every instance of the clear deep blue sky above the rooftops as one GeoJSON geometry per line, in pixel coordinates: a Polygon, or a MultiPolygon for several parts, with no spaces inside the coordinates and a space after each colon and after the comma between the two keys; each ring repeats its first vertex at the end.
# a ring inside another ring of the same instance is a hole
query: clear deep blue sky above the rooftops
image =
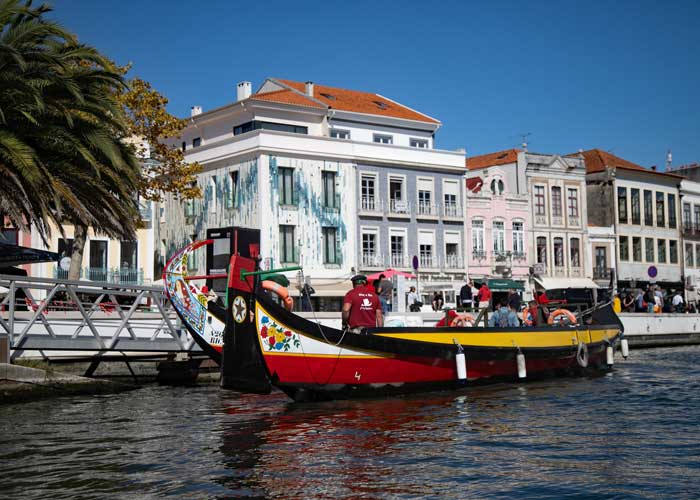
{"type": "Polygon", "coordinates": [[[375,92],[436,147],[700,162],[700,1],[53,0],[51,17],[189,116],[266,77],[375,92]]]}

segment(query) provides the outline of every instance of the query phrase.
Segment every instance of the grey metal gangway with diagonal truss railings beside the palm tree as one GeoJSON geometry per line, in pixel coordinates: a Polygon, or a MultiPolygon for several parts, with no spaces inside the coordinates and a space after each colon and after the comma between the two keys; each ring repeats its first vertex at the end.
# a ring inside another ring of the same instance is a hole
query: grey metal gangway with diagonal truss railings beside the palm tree
{"type": "MultiPolygon", "coordinates": [[[[0,274],[11,358],[200,353],[163,287],[0,274]]],[[[5,360],[0,360],[4,362],[5,360]]]]}

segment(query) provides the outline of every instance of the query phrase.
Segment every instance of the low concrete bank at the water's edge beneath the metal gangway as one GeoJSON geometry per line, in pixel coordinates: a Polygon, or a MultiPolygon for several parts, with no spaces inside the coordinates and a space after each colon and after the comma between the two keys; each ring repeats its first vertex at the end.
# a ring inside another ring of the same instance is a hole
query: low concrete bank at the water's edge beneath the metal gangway
{"type": "Polygon", "coordinates": [[[0,404],[70,394],[105,394],[136,387],[48,369],[0,363],[0,404]]]}

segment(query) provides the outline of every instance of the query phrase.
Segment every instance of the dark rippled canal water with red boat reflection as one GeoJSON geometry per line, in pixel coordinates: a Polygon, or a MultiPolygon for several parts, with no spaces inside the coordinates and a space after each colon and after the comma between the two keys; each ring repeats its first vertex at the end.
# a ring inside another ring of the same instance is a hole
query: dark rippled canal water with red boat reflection
{"type": "Polygon", "coordinates": [[[204,385],[0,406],[0,497],[699,498],[700,347],[632,355],[383,400],[204,385]]]}

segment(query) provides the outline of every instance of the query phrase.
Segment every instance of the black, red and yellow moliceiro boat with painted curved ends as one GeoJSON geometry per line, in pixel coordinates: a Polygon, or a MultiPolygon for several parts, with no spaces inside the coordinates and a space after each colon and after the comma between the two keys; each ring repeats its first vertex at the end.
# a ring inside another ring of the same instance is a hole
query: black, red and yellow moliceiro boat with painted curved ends
{"type": "Polygon", "coordinates": [[[275,290],[286,297],[286,289],[269,281],[274,270],[259,271],[255,260],[240,256],[230,261],[227,307],[212,309],[192,287],[178,284],[186,281],[186,257],[184,266],[178,262],[166,276],[168,295],[197,342],[220,360],[222,387],[259,394],[277,388],[295,401],[604,372],[623,334],[609,306],[543,327],[387,327],[358,334],[294,314],[289,300],[272,297],[275,290]],[[186,303],[197,312],[181,310],[186,303]]]}

